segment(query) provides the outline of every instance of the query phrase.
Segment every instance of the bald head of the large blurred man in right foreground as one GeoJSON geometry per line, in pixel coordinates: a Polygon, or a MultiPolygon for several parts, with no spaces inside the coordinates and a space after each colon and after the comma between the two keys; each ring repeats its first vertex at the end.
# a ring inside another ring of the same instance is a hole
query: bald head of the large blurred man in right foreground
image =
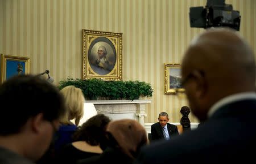
{"type": "Polygon", "coordinates": [[[230,94],[254,91],[253,50],[237,32],[210,29],[185,52],[181,75],[191,110],[202,119],[209,107],[230,94]]]}

